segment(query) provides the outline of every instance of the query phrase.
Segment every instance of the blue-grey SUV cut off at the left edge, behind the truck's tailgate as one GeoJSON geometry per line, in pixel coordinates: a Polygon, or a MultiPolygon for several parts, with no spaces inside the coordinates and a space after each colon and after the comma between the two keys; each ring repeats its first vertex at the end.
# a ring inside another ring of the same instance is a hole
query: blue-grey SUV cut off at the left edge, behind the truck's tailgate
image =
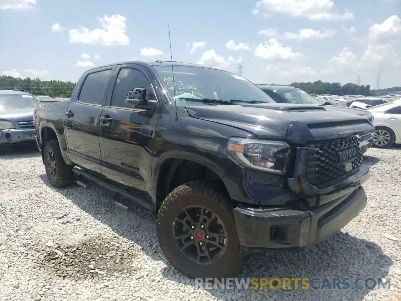
{"type": "Polygon", "coordinates": [[[0,145],[35,143],[34,110],[38,100],[20,89],[0,89],[0,145]]]}

